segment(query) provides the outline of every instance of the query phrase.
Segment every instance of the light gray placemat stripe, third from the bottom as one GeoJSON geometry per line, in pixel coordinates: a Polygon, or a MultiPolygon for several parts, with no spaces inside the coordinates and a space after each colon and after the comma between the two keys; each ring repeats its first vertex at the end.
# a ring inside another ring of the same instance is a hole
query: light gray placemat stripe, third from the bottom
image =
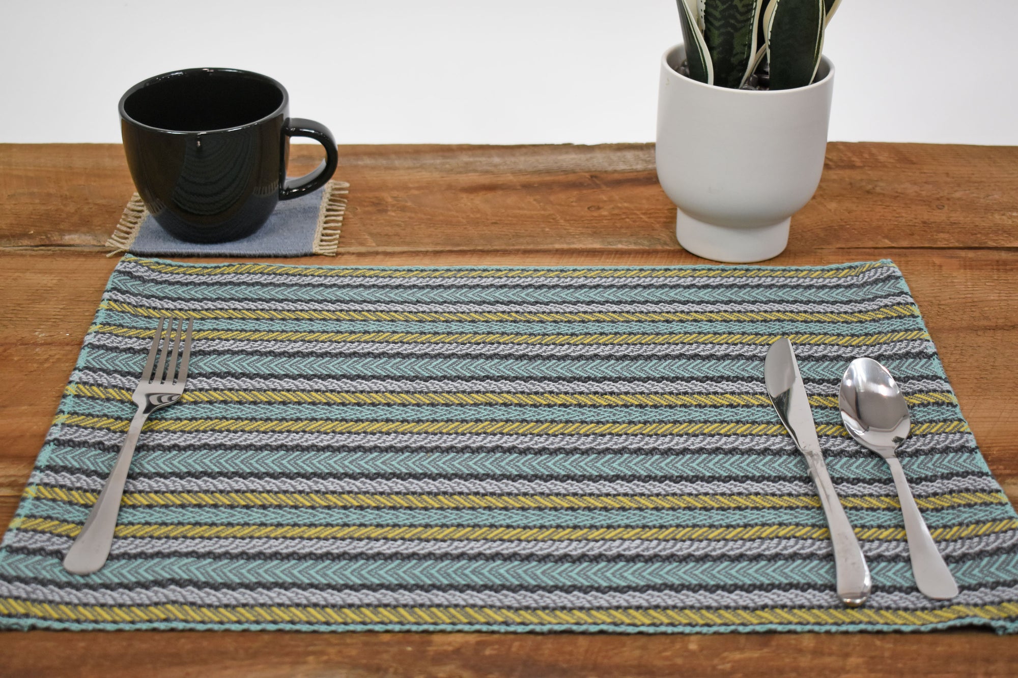
{"type": "MultiPolygon", "coordinates": [[[[65,471],[36,470],[30,485],[58,486],[72,490],[99,492],[105,475],[87,475],[65,471]]],[[[925,483],[913,483],[917,497],[954,492],[1000,492],[988,476],[968,475],[925,483]]],[[[366,494],[450,494],[450,495],[595,495],[595,496],[682,496],[682,495],[769,495],[813,496],[811,483],[805,481],[745,482],[735,481],[516,481],[496,478],[351,478],[329,477],[134,477],[128,478],[126,492],[297,492],[366,494]]],[[[896,497],[887,483],[840,484],[838,494],[845,497],[896,497]]]]}

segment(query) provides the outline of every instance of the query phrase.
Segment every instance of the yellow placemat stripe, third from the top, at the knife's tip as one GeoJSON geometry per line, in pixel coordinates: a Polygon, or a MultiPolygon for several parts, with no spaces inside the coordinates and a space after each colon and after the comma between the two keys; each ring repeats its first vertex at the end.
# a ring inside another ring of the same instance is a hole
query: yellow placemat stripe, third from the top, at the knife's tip
{"type": "MultiPolygon", "coordinates": [[[[151,339],[153,329],[120,325],[94,325],[90,332],[121,337],[151,339]]],[[[778,337],[788,337],[793,344],[832,346],[872,346],[896,341],[928,340],[924,330],[885,332],[861,336],[838,334],[728,334],[687,332],[677,334],[505,334],[477,332],[254,332],[241,330],[203,330],[193,333],[195,339],[231,341],[306,341],[364,342],[399,344],[526,344],[526,345],[619,345],[619,344],[748,344],[767,346],[778,337]]]]}

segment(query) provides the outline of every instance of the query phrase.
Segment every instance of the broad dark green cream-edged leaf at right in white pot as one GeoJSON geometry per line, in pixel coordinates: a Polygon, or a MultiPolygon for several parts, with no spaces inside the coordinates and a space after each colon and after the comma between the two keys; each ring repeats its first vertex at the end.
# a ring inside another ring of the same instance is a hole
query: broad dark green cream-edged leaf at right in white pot
{"type": "Polygon", "coordinates": [[[813,81],[824,47],[825,0],[772,0],[768,7],[771,89],[791,90],[813,81]]]}

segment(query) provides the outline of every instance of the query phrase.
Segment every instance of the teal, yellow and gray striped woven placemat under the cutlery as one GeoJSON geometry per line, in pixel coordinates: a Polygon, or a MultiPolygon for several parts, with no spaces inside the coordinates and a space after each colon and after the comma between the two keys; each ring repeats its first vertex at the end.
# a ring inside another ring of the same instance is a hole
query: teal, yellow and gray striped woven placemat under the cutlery
{"type": "Polygon", "coordinates": [[[1018,628],[1018,516],[901,273],[344,268],[125,257],[0,548],[0,626],[716,632],[1018,628]],[[166,312],[188,390],[142,434],[107,565],[60,565],[166,312]],[[873,576],[843,607],[765,389],[789,336],[873,576]],[[902,463],[961,586],[914,585],[854,357],[907,395],[902,463]]]}

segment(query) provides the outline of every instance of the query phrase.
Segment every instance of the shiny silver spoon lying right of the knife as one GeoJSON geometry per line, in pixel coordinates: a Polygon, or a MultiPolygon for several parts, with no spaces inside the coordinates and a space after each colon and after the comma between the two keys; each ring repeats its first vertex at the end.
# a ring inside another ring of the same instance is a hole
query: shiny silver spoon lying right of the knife
{"type": "Polygon", "coordinates": [[[954,598],[958,595],[958,584],[929,535],[908,489],[905,471],[895,456],[898,446],[908,438],[912,419],[894,377],[872,358],[852,360],[841,380],[838,406],[841,407],[841,420],[852,438],[884,457],[891,466],[905,517],[908,557],[919,590],[937,601],[954,598]]]}

